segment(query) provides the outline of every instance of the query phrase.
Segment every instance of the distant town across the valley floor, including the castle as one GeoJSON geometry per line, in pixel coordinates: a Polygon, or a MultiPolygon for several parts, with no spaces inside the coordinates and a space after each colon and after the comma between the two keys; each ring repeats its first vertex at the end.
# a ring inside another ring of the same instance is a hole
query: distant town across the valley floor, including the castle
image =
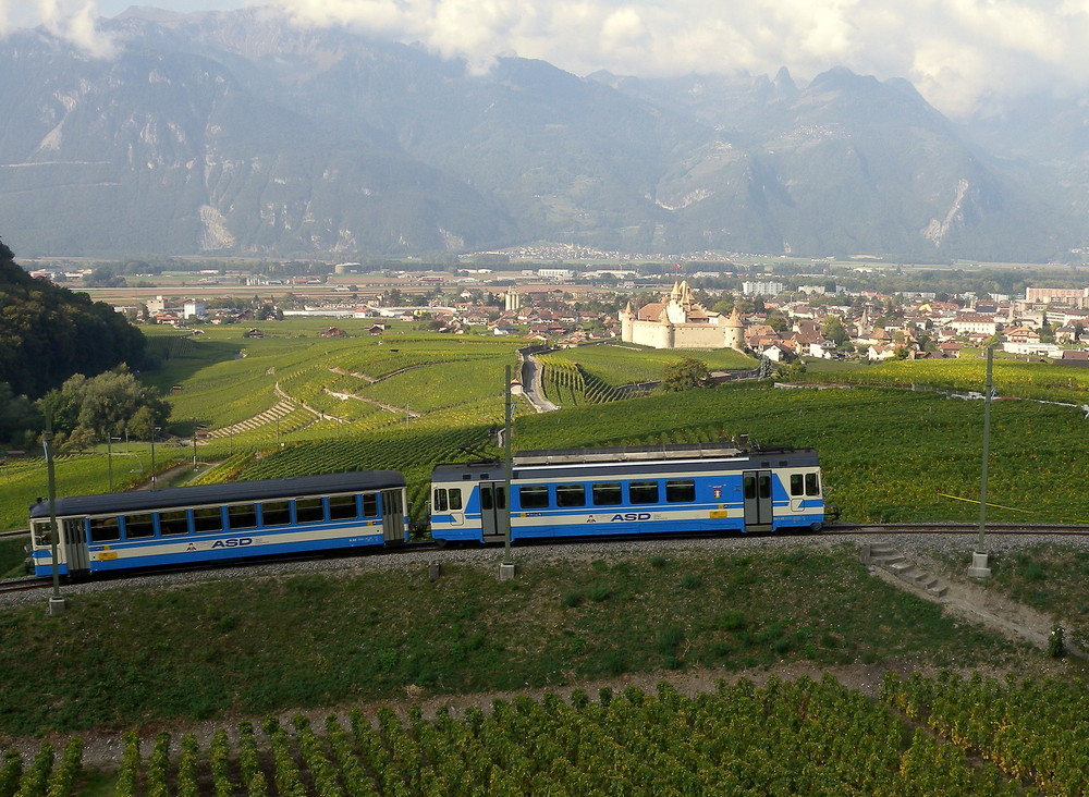
{"type": "MultiPolygon", "coordinates": [[[[694,274],[692,277],[699,277],[694,274]]],[[[366,277],[360,275],[359,280],[366,277]]],[[[962,347],[996,345],[1012,355],[1089,367],[1089,287],[1028,287],[1025,296],[927,292],[882,294],[830,283],[744,281],[741,291],[703,291],[689,278],[639,284],[626,270],[577,274],[540,268],[397,273],[375,285],[314,277],[247,275],[254,298],[157,295],[118,306],[143,322],[194,326],[291,317],[370,319],[369,334],[391,320],[449,334],[513,335],[551,346],[616,341],[653,348],[734,348],[776,363],[804,358],[958,357],[962,347]],[[322,291],[313,291],[321,286],[322,291]],[[269,296],[268,289],[277,291],[269,296]],[[298,295],[291,291],[297,290],[298,295]],[[266,298],[261,298],[266,296],[266,298]],[[240,306],[245,304],[246,306],[240,306]]],[[[218,282],[211,280],[209,282],[218,282]]],[[[253,334],[261,334],[256,329],[253,334]]],[[[331,324],[326,335],[345,332],[331,324]]]]}

